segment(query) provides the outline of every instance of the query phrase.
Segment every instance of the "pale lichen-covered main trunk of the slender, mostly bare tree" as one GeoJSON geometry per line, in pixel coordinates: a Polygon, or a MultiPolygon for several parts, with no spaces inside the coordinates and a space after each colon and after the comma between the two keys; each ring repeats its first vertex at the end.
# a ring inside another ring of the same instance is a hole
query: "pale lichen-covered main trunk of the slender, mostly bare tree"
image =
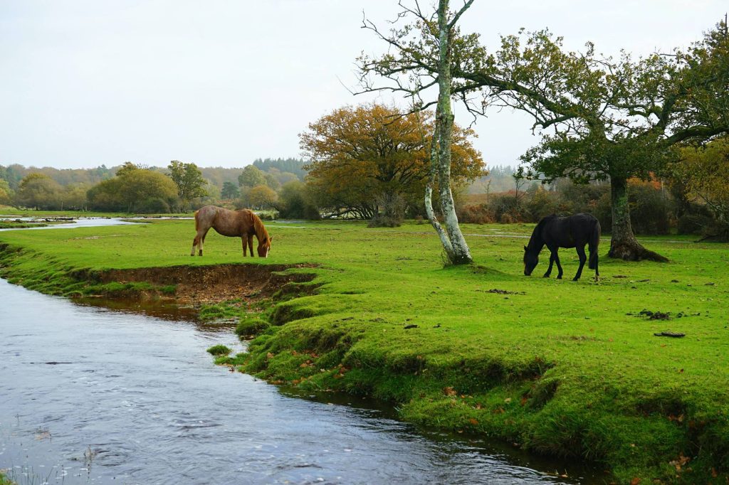
{"type": "Polygon", "coordinates": [[[451,140],[453,111],[451,110],[451,26],[448,25],[448,0],[438,2],[438,106],[436,130],[438,137],[438,189],[440,208],[445,219],[445,230],[453,247],[451,264],[472,262],[466,240],[456,216],[456,205],[451,192],[451,140]]]}

